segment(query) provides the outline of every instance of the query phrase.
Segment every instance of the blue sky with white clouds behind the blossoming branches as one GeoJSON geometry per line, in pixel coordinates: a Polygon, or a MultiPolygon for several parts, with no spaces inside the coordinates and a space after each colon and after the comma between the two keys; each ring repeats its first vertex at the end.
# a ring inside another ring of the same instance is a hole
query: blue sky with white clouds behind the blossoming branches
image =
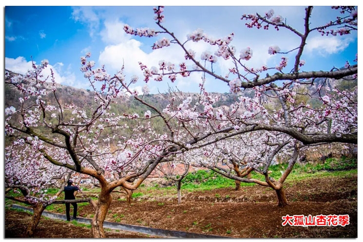
{"type": "MultiPolygon", "coordinates": [[[[278,45],[286,52],[299,45],[289,31],[281,29],[268,31],[248,29],[240,20],[244,13],[264,14],[274,9],[276,15],[287,19],[287,23],[298,30],[303,29],[304,8],[299,6],[167,6],[165,7],[164,25],[181,40],[187,34],[201,28],[211,37],[226,37],[234,33],[232,45],[237,49],[250,47],[253,56],[246,61],[249,67],[259,68],[262,65],[276,66],[281,56],[270,56],[268,47],[278,45]]],[[[77,88],[88,89],[88,82],[79,71],[80,56],[91,52],[91,59],[96,66],[105,65],[113,75],[125,64],[126,78],[134,74],[139,81],[133,88],[141,90],[145,84],[138,61],[149,67],[158,67],[163,59],[176,65],[183,61],[180,48],[171,46],[153,51],[151,45],[157,39],[126,35],[122,29],[125,23],[136,27],[151,27],[158,30],[153,20],[152,6],[6,6],[4,16],[5,68],[24,74],[31,67],[31,57],[36,63],[48,59],[50,67],[56,72],[57,82],[77,88]]],[[[323,24],[335,18],[336,11],[330,7],[316,7],[313,10],[311,25],[323,24]]],[[[343,67],[346,60],[353,63],[358,52],[357,33],[337,37],[321,37],[314,33],[307,39],[303,59],[306,65],[302,70],[330,70],[332,67],[343,67]]],[[[210,48],[203,43],[189,45],[197,52],[196,56],[210,48]]],[[[216,48],[210,49],[212,53],[216,48]]],[[[292,64],[292,52],[285,55],[292,64]]],[[[239,54],[238,54],[239,55],[239,54]]],[[[229,67],[228,62],[219,57],[213,69],[223,75],[229,67]]],[[[287,68],[290,70],[291,68],[287,68]]],[[[276,71],[273,71],[275,73],[276,71]]],[[[151,93],[165,92],[170,86],[177,86],[181,91],[198,92],[200,74],[189,78],[178,78],[171,83],[168,78],[163,82],[151,80],[148,86],[151,93]]],[[[229,87],[212,78],[207,79],[206,88],[211,92],[228,92],[229,87]]]]}

